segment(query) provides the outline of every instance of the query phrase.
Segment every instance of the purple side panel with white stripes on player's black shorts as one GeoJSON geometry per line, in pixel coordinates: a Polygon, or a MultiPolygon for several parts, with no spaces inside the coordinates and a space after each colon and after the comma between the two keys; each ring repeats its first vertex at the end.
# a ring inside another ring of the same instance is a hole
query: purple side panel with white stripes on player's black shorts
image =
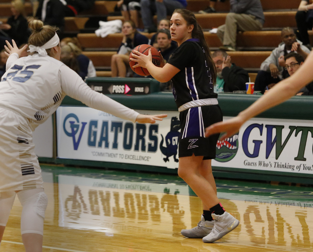
{"type": "Polygon", "coordinates": [[[203,135],[203,125],[202,125],[202,116],[201,111],[199,113],[200,107],[195,107],[189,109],[189,118],[186,119],[186,125],[184,129],[184,134],[182,138],[185,137],[200,137],[203,135]]]}

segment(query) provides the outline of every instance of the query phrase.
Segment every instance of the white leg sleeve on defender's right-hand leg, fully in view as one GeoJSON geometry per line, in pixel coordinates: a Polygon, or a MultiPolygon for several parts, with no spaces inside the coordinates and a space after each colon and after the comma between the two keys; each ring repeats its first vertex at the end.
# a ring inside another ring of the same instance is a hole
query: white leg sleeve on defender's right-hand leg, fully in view
{"type": "Polygon", "coordinates": [[[44,189],[22,190],[17,195],[23,206],[21,233],[38,233],[44,235],[45,209],[48,205],[48,198],[44,189]]]}

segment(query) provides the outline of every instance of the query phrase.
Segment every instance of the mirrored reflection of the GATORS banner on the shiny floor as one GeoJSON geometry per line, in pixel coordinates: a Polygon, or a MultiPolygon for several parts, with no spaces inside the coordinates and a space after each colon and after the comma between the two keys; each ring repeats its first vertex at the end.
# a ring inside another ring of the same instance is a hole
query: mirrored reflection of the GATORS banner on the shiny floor
{"type": "Polygon", "coordinates": [[[190,211],[185,212],[189,202],[188,197],[169,192],[183,190],[188,187],[109,180],[100,183],[99,179],[59,175],[59,225],[104,232],[112,232],[112,225],[121,222],[158,225],[177,236],[181,227],[186,227],[185,221],[190,225],[190,211]],[[153,187],[160,192],[152,192],[153,187]]]}

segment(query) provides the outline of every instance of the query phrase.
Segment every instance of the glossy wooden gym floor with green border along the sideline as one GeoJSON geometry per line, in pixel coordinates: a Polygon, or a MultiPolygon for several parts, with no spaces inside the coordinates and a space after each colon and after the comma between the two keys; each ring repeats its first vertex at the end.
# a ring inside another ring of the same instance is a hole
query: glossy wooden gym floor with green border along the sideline
{"type": "MultiPolygon", "coordinates": [[[[214,244],[188,239],[201,201],[177,176],[42,166],[44,252],[312,252],[313,188],[217,180],[240,220],[214,244]]],[[[24,251],[16,197],[1,252],[24,251]]]]}

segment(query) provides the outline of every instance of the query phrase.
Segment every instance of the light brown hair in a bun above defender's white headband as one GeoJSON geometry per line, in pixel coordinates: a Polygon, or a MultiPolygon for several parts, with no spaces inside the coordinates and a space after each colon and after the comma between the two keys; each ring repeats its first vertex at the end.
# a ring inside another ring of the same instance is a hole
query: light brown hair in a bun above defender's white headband
{"type": "MultiPolygon", "coordinates": [[[[27,21],[28,27],[32,31],[28,39],[28,45],[43,46],[53,38],[55,32],[58,30],[56,27],[44,25],[41,20],[34,19],[33,17],[28,18],[27,21]]],[[[50,49],[46,49],[46,52],[49,54],[50,49]]]]}

